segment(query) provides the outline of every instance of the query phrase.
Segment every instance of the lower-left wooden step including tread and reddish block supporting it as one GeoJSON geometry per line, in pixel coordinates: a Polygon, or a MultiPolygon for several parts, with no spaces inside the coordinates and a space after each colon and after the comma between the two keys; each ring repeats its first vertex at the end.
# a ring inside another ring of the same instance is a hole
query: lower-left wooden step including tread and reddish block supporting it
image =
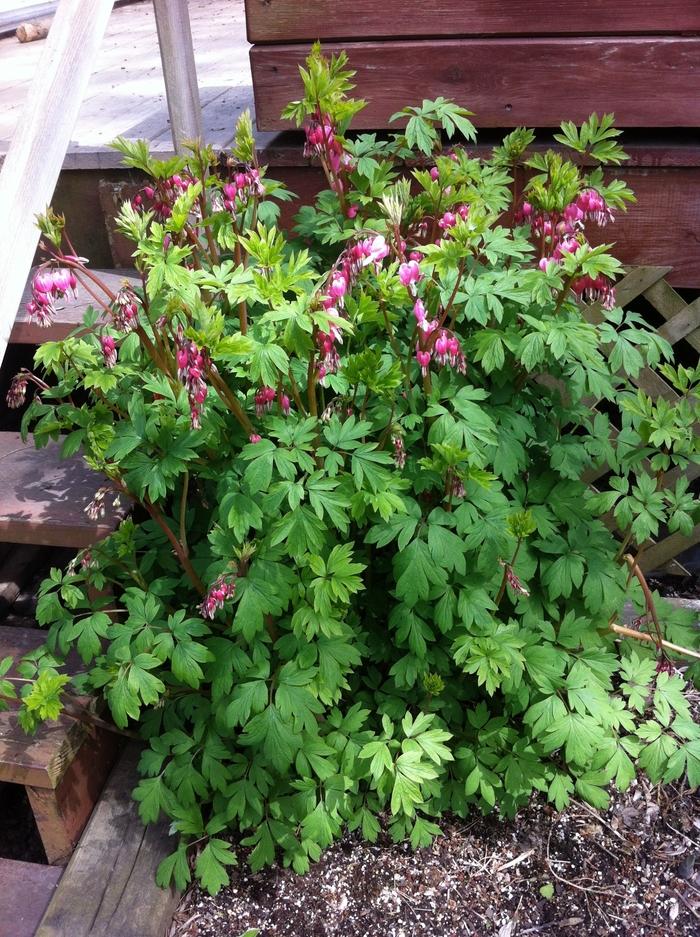
{"type": "MultiPolygon", "coordinates": [[[[45,640],[46,632],[36,628],[0,626],[0,660],[12,657],[18,661],[45,640]]],[[[80,659],[72,655],[64,670],[75,673],[81,668],[80,659]]],[[[17,676],[16,665],[9,676],[17,676]]],[[[16,709],[0,712],[0,781],[26,788],[49,862],[68,861],[117,750],[114,733],[88,729],[65,715],[43,723],[28,736],[18,724],[16,709]]]]}

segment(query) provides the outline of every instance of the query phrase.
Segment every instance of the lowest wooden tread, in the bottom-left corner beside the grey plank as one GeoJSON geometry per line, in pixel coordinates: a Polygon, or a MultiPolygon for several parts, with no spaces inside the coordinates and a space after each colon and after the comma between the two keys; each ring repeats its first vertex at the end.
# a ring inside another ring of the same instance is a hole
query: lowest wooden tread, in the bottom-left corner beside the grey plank
{"type": "Polygon", "coordinates": [[[0,859],[0,933],[34,937],[63,869],[0,859]]]}

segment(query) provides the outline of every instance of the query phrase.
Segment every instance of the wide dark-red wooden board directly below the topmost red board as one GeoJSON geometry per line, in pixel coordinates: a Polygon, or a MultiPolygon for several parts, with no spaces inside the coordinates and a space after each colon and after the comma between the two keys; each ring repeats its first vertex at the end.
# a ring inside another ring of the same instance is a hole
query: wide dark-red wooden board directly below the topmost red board
{"type": "MultiPolygon", "coordinates": [[[[331,43],[345,48],[368,106],[355,128],[388,127],[421,98],[444,95],[479,127],[556,127],[597,110],[620,127],[700,126],[700,38],[461,39],[331,43]],[[650,93],[653,89],[653,93],[650,93]]],[[[261,130],[291,126],[282,108],[302,93],[305,45],[254,46],[250,61],[261,130]]]]}

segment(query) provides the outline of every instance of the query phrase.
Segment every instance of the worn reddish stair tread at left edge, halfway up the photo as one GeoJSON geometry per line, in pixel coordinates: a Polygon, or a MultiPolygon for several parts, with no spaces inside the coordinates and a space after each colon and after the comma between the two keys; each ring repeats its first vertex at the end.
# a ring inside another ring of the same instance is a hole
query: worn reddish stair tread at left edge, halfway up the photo
{"type": "Polygon", "coordinates": [[[90,520],[85,508],[103,483],[80,456],[61,459],[58,443],[35,449],[31,437],[0,433],[0,541],[88,547],[120,520],[105,499],[105,517],[90,520]]]}

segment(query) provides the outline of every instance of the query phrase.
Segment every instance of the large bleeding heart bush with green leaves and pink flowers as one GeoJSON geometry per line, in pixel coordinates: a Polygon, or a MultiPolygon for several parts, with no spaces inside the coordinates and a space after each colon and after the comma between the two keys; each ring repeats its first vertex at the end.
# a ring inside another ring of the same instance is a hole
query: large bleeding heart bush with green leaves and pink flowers
{"type": "Polygon", "coordinates": [[[94,516],[133,511],[43,584],[22,720],[97,692],[147,741],[134,796],[171,822],[164,885],[224,885],[232,832],[253,869],[304,872],[381,818],[419,847],[445,812],[534,791],[605,807],[642,771],[700,783],[681,661],[609,627],[627,597],[642,630],[653,612],[696,643],[624,556],[700,513],[700,369],[616,305],[620,264],[586,236],[632,198],[604,175],[613,118],[481,158],[438,99],[348,137],[351,74],[315,48],[288,111],[329,183],[294,238],[247,117],[228,158],[117,141],[150,177],[118,218],[142,287],[102,291],[41,220],[33,313],[66,271],[104,309],[39,349],[14,402],[38,382],[25,430],[107,476],[94,516]],[[660,366],[680,402],[632,383],[660,366]]]}

